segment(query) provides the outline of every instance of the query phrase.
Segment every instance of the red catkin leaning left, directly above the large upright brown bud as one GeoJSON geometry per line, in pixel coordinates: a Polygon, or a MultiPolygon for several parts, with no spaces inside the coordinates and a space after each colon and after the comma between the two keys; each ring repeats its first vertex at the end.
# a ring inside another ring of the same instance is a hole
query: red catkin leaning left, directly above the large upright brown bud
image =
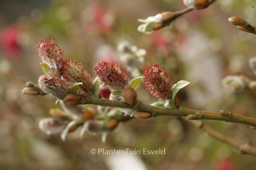
{"type": "Polygon", "coordinates": [[[99,79],[112,90],[123,90],[128,85],[129,79],[117,63],[102,61],[94,70],[99,79]]]}

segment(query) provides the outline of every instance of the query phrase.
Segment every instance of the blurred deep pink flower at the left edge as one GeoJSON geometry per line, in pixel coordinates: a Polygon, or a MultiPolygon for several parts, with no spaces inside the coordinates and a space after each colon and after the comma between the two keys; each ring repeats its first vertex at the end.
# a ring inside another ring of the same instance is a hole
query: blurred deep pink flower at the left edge
{"type": "Polygon", "coordinates": [[[21,56],[19,36],[20,30],[15,26],[9,26],[0,31],[0,49],[6,57],[16,59],[21,56]]]}

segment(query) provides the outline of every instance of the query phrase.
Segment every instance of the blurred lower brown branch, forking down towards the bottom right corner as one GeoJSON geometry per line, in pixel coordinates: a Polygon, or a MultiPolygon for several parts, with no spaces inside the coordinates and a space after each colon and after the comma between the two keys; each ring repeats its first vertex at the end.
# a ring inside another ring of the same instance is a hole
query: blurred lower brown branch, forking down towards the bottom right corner
{"type": "Polygon", "coordinates": [[[194,125],[195,127],[198,127],[200,130],[204,131],[205,133],[214,137],[215,139],[225,142],[230,146],[240,150],[241,154],[256,156],[256,147],[253,147],[250,143],[244,144],[230,136],[219,133],[218,131],[212,129],[212,127],[204,124],[201,121],[190,121],[190,120],[186,120],[186,121],[192,123],[192,125],[194,125]]]}

